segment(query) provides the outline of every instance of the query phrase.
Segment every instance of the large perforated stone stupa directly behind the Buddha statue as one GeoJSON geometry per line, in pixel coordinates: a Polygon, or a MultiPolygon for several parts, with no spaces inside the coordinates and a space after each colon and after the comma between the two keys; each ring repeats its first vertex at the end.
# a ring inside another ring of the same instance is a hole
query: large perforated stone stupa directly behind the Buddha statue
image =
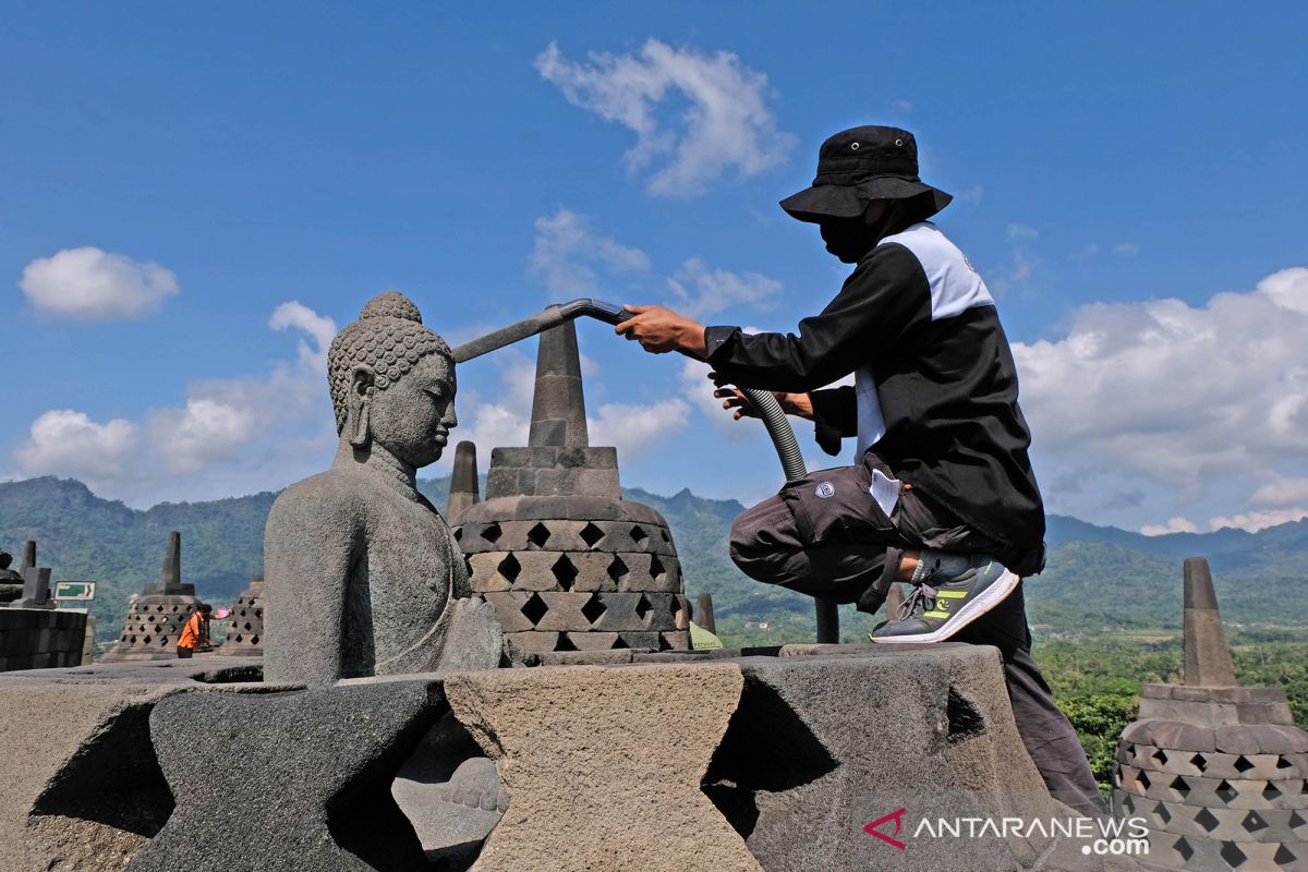
{"type": "Polygon", "coordinates": [[[570,322],[540,336],[527,447],[492,451],[487,499],[458,520],[515,654],[689,647],[667,522],[621,498],[616,448],[590,446],[570,322]]]}

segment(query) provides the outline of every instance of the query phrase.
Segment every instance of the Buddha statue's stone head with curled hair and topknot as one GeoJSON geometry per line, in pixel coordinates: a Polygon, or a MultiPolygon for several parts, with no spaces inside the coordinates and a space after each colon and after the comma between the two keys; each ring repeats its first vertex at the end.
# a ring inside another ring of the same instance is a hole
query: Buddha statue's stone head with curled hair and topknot
{"type": "Polygon", "coordinates": [[[327,352],[336,433],[357,451],[381,446],[415,469],[441,458],[454,414],[454,356],[394,290],[373,297],[327,352]]]}

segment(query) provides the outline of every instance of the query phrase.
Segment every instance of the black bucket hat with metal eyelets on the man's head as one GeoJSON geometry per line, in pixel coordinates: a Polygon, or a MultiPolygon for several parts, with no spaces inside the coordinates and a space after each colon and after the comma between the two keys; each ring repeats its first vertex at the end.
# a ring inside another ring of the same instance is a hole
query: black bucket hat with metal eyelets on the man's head
{"type": "Polygon", "coordinates": [[[811,187],[781,201],[800,221],[857,218],[872,200],[914,200],[918,221],[950,205],[954,197],[917,175],[917,140],[897,127],[854,127],[818,149],[811,187]]]}

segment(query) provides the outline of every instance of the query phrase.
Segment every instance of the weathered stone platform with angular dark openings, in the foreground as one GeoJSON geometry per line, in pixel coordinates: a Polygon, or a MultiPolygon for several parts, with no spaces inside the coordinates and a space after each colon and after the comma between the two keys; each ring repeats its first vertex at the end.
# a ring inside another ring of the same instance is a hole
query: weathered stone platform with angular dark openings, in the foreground
{"type": "Polygon", "coordinates": [[[264,685],[249,656],[0,676],[0,872],[1105,868],[1070,839],[921,834],[1073,817],[994,650],[781,654],[559,652],[625,662],[317,690],[264,685]],[[443,787],[396,782],[420,741],[455,752],[432,728],[451,711],[502,792],[476,757],[443,787]],[[454,856],[432,828],[459,808],[470,833],[502,820],[462,864],[422,860],[454,856]]]}

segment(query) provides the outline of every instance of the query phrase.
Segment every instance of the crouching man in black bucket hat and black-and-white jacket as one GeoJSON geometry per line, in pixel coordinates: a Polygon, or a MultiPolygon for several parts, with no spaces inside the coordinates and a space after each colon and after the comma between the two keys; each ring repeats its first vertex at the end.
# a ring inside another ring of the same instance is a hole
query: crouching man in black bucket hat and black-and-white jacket
{"type": "MultiPolygon", "coordinates": [[[[732,524],[751,578],[875,612],[895,580],[910,594],[872,631],[882,643],[955,639],[1003,655],[1019,731],[1053,795],[1101,813],[1086,754],[1031,659],[1020,577],[1044,566],[1044,505],[1031,471],[1018,378],[985,282],[926,220],[948,193],[918,178],[917,143],[893,127],[828,139],[811,187],[782,200],[855,264],[794,333],[705,327],[659,306],[617,326],[654,353],[708,361],[719,384],[774,391],[816,424],[829,454],[857,437],[853,467],[787,482],[732,524]],[[819,390],[854,374],[854,386],[819,390]]],[[[736,390],[718,390],[739,418],[736,390]]]]}

